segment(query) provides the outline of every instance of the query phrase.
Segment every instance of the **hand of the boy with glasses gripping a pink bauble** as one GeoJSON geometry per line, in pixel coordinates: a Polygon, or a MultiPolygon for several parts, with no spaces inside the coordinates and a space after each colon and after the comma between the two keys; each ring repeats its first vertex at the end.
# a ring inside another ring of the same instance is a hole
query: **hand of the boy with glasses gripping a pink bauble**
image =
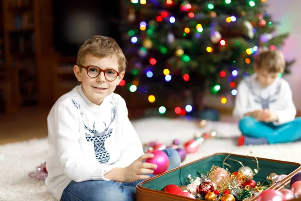
{"type": "Polygon", "coordinates": [[[157,168],[156,164],[144,163],[142,162],[146,158],[153,158],[154,154],[146,153],[140,156],[137,160],[132,162],[129,166],[123,168],[122,177],[123,182],[134,182],[139,179],[148,179],[148,175],[143,174],[153,174],[154,170],[157,168]]]}

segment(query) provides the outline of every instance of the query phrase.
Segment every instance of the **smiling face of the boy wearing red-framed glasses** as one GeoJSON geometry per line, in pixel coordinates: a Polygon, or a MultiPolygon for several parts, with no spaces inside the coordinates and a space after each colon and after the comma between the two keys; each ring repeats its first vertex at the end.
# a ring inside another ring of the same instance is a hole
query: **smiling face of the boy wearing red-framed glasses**
{"type": "MultiPolygon", "coordinates": [[[[85,56],[85,63],[84,66],[97,66],[102,70],[105,69],[113,69],[119,72],[118,69],[118,60],[115,55],[98,58],[92,55],[85,56]]],[[[96,105],[100,105],[102,103],[103,98],[107,95],[111,94],[119,82],[122,80],[124,76],[124,72],[119,72],[119,76],[114,81],[106,80],[104,73],[100,72],[100,74],[95,77],[91,78],[87,74],[87,70],[79,67],[77,65],[74,66],[74,74],[78,81],[81,81],[82,89],[84,94],[87,96],[92,103],[96,105]]]]}

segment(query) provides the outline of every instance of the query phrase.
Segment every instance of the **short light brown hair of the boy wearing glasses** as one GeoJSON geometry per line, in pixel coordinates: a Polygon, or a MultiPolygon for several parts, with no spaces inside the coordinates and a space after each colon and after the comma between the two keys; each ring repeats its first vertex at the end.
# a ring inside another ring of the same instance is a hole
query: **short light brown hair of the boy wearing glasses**
{"type": "Polygon", "coordinates": [[[115,55],[118,60],[119,72],[125,71],[125,56],[113,38],[105,36],[93,36],[92,38],[86,40],[78,50],[76,65],[83,65],[86,55],[92,55],[99,58],[115,55]]]}

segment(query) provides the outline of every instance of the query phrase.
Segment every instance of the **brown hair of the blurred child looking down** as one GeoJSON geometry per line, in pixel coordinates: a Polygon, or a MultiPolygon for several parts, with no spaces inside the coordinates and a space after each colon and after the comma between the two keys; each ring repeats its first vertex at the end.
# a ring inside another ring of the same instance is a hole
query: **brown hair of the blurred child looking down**
{"type": "Polygon", "coordinates": [[[283,72],[285,68],[284,55],[279,50],[263,50],[255,57],[255,67],[268,72],[283,72]]]}

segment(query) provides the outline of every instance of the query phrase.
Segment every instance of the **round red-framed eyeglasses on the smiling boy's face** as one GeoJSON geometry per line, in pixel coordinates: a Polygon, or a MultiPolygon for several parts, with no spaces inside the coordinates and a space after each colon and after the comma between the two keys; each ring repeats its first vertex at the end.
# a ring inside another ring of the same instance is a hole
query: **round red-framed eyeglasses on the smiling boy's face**
{"type": "Polygon", "coordinates": [[[82,66],[82,65],[78,65],[78,66],[86,69],[88,76],[91,78],[97,77],[100,74],[100,72],[103,72],[105,79],[108,81],[114,81],[117,78],[117,76],[119,76],[119,72],[113,69],[102,70],[97,66],[82,66]]]}

